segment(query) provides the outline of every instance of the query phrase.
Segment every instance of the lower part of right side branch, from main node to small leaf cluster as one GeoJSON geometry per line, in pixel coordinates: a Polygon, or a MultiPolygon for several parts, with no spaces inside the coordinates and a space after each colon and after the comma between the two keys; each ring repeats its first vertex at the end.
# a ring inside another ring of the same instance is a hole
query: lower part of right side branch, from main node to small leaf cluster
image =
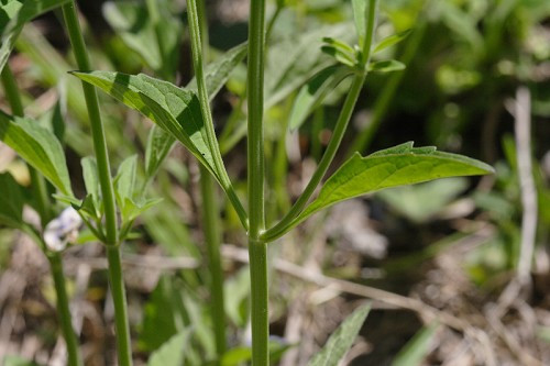
{"type": "Polygon", "coordinates": [[[342,111],[340,112],[340,117],[338,118],[337,125],[334,131],[332,132],[332,137],[322,155],[319,165],[317,166],[317,170],[314,173],[311,180],[309,180],[304,192],[298,197],[298,200],[294,203],[288,213],[272,229],[267,230],[263,235],[262,240],[266,242],[274,241],[277,237],[280,237],[284,233],[287,232],[287,229],[290,228],[293,220],[300,214],[300,212],[306,207],[307,202],[314,195],[317,186],[320,184],[322,177],[327,173],[332,163],[338,147],[342,142],[342,137],[345,133],[348,124],[350,122],[351,115],[353,113],[353,109],[355,108],[355,103],[358,101],[359,95],[363,87],[363,82],[365,79],[364,74],[359,74],[354,77],[353,82],[351,85],[348,97],[345,98],[342,111]]]}

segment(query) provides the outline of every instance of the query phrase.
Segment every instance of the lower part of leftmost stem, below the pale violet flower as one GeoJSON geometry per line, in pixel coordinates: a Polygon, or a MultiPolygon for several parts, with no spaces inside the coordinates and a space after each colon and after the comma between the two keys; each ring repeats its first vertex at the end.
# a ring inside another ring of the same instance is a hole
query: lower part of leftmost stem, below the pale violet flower
{"type": "Polygon", "coordinates": [[[78,353],[78,342],[73,330],[73,322],[70,320],[70,309],[65,288],[65,275],[63,273],[62,255],[59,253],[48,253],[50,269],[54,278],[55,295],[57,297],[56,307],[59,324],[62,326],[63,336],[67,344],[67,365],[79,366],[82,365],[78,353]]]}

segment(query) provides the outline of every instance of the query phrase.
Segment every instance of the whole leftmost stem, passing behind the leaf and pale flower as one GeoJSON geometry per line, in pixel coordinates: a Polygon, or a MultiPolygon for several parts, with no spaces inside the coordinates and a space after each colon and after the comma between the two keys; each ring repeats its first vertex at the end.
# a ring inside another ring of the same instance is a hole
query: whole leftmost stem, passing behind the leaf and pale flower
{"type": "MultiPolygon", "coordinates": [[[[4,87],[6,97],[11,106],[11,111],[14,115],[23,117],[23,103],[21,101],[21,96],[15,82],[15,78],[7,64],[2,70],[2,85],[4,87]]],[[[36,207],[41,218],[42,225],[45,225],[51,218],[50,200],[47,198],[46,181],[43,176],[41,176],[33,167],[29,166],[29,173],[31,175],[31,186],[33,189],[33,196],[36,200],[36,207]]],[[[38,239],[37,239],[38,240],[38,239]]],[[[45,245],[42,245],[45,248],[45,245]]],[[[78,353],[78,342],[76,334],[73,330],[73,323],[70,321],[70,310],[69,300],[67,297],[67,290],[65,288],[65,275],[63,274],[62,257],[59,253],[46,254],[50,260],[50,269],[52,270],[52,276],[55,285],[56,295],[56,307],[57,314],[59,317],[59,324],[62,326],[63,337],[65,339],[65,344],[67,345],[67,364],[70,366],[82,365],[79,353],[78,353]]]]}

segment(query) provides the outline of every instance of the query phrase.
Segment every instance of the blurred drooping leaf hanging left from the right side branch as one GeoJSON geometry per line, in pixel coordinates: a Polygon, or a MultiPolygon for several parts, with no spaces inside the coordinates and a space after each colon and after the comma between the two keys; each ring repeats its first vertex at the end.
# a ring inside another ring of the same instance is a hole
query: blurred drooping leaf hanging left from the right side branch
{"type": "Polygon", "coordinates": [[[349,70],[339,65],[329,66],[301,87],[290,111],[289,129],[297,130],[307,117],[322,102],[328,92],[348,76],[349,70]]]}

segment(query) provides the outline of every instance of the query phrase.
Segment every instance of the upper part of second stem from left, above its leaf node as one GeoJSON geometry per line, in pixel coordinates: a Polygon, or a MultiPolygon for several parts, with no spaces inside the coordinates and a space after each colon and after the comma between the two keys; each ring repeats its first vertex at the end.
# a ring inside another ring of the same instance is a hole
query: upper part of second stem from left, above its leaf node
{"type": "MultiPolygon", "coordinates": [[[[76,13],[75,1],[63,5],[63,16],[67,33],[73,45],[76,63],[82,71],[90,70],[90,62],[86,44],[84,43],[78,15],[76,13]]],[[[103,123],[99,113],[99,102],[97,91],[94,86],[82,81],[84,97],[88,108],[88,114],[91,124],[91,135],[94,140],[94,149],[98,162],[98,176],[101,186],[101,197],[105,207],[106,217],[106,236],[107,245],[117,245],[118,243],[118,225],[117,225],[117,207],[114,203],[114,190],[112,187],[111,168],[109,164],[109,153],[107,151],[107,142],[105,135],[103,123]]]]}

